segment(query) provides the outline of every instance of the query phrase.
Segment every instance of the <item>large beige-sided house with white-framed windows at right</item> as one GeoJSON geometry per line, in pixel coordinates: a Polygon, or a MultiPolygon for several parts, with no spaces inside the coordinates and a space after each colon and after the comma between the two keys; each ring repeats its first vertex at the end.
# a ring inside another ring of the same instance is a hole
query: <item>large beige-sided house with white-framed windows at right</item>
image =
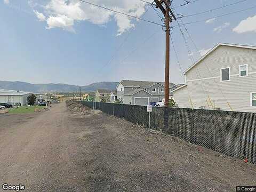
{"type": "Polygon", "coordinates": [[[256,112],[256,47],[219,43],[184,75],[178,107],[256,112]]]}

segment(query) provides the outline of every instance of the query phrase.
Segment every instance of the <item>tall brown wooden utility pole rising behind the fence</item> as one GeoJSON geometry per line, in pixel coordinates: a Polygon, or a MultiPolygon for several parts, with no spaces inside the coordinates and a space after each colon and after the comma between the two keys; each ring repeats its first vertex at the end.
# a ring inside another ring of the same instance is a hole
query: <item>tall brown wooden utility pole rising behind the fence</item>
{"type": "Polygon", "coordinates": [[[169,71],[170,71],[170,22],[172,19],[176,20],[175,15],[173,14],[170,6],[170,0],[154,0],[156,3],[156,8],[159,8],[165,17],[165,97],[164,97],[164,106],[169,106],[169,71]],[[165,8],[162,4],[165,4],[165,8]],[[170,13],[172,17],[170,17],[170,13]]]}

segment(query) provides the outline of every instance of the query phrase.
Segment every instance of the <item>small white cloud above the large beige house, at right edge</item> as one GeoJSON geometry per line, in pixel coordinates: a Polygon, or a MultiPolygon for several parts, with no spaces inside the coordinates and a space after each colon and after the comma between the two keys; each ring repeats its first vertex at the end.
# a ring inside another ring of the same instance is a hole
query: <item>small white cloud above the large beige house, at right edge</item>
{"type": "Polygon", "coordinates": [[[249,17],[245,20],[242,20],[238,26],[233,29],[234,32],[238,34],[246,32],[255,32],[256,33],[256,15],[254,17],[249,17]]]}

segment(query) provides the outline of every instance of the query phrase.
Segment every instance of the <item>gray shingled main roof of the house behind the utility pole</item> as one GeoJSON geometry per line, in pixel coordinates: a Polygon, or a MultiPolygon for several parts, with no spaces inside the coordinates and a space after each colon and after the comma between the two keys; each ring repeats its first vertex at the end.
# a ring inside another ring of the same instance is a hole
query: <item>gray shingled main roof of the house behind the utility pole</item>
{"type": "MultiPolygon", "coordinates": [[[[131,81],[131,80],[122,80],[120,82],[125,87],[151,87],[157,83],[160,83],[161,85],[164,85],[164,82],[149,82],[149,81],[131,81]]],[[[173,87],[175,84],[171,83],[169,84],[169,87],[173,87]]]]}

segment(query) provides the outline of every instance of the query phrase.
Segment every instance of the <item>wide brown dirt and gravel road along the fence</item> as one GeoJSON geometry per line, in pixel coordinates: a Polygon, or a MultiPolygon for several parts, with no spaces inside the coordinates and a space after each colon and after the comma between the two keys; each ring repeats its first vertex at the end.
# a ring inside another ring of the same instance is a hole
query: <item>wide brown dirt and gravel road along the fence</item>
{"type": "Polygon", "coordinates": [[[0,115],[0,191],[235,191],[256,166],[105,114],[0,115]]]}

